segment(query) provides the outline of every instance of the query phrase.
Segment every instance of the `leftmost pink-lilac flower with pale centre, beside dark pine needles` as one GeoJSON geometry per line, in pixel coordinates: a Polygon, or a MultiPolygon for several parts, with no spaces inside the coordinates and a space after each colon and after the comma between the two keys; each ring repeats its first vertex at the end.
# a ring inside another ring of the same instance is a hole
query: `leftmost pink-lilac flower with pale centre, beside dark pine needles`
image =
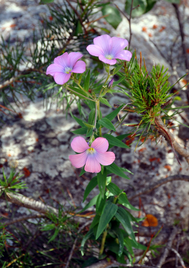
{"type": "Polygon", "coordinates": [[[83,73],[86,70],[84,61],[79,60],[83,55],[79,52],[65,52],[54,59],[54,63],[47,67],[46,74],[54,77],[55,82],[63,85],[68,82],[71,73],[83,73]]]}

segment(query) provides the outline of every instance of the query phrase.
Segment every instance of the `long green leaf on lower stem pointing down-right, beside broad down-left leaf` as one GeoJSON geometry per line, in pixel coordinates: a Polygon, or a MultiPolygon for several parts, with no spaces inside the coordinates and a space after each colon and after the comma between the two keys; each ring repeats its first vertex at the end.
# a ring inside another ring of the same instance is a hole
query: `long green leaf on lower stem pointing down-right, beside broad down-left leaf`
{"type": "Polygon", "coordinates": [[[126,230],[128,235],[131,237],[134,244],[137,244],[137,241],[135,239],[135,235],[134,235],[133,228],[131,226],[130,218],[127,214],[127,211],[121,207],[118,207],[117,212],[115,213],[115,217],[123,225],[123,228],[126,230]]]}

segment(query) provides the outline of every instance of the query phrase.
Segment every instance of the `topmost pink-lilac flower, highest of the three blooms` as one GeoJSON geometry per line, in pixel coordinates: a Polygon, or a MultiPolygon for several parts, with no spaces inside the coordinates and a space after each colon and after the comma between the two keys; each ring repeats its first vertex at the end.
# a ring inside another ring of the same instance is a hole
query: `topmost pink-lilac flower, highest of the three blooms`
{"type": "Polygon", "coordinates": [[[101,35],[93,39],[94,45],[87,46],[87,51],[93,56],[97,56],[101,61],[113,65],[116,59],[130,61],[132,54],[128,50],[123,50],[128,46],[128,41],[119,37],[101,35]]]}

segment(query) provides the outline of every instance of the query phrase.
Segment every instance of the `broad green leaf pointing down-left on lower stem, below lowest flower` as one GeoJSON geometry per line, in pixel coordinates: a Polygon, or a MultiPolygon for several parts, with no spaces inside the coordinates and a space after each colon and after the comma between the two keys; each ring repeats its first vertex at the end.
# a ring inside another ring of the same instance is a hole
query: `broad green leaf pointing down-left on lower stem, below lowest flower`
{"type": "Polygon", "coordinates": [[[99,225],[98,225],[98,228],[97,228],[96,239],[99,238],[99,236],[104,231],[104,229],[106,228],[108,223],[114,217],[114,215],[116,214],[117,209],[118,209],[118,206],[116,206],[115,204],[111,203],[109,200],[106,202],[106,205],[104,206],[102,215],[100,216],[99,225]]]}

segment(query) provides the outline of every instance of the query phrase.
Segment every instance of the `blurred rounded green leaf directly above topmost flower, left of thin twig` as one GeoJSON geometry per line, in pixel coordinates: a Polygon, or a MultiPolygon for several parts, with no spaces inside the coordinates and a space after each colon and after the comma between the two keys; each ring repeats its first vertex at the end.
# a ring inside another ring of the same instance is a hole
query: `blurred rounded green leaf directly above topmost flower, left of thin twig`
{"type": "Polygon", "coordinates": [[[117,26],[122,21],[120,12],[117,10],[116,7],[111,7],[110,5],[106,5],[102,8],[102,14],[103,16],[108,15],[105,17],[105,20],[114,27],[114,29],[117,28],[117,26]]]}

